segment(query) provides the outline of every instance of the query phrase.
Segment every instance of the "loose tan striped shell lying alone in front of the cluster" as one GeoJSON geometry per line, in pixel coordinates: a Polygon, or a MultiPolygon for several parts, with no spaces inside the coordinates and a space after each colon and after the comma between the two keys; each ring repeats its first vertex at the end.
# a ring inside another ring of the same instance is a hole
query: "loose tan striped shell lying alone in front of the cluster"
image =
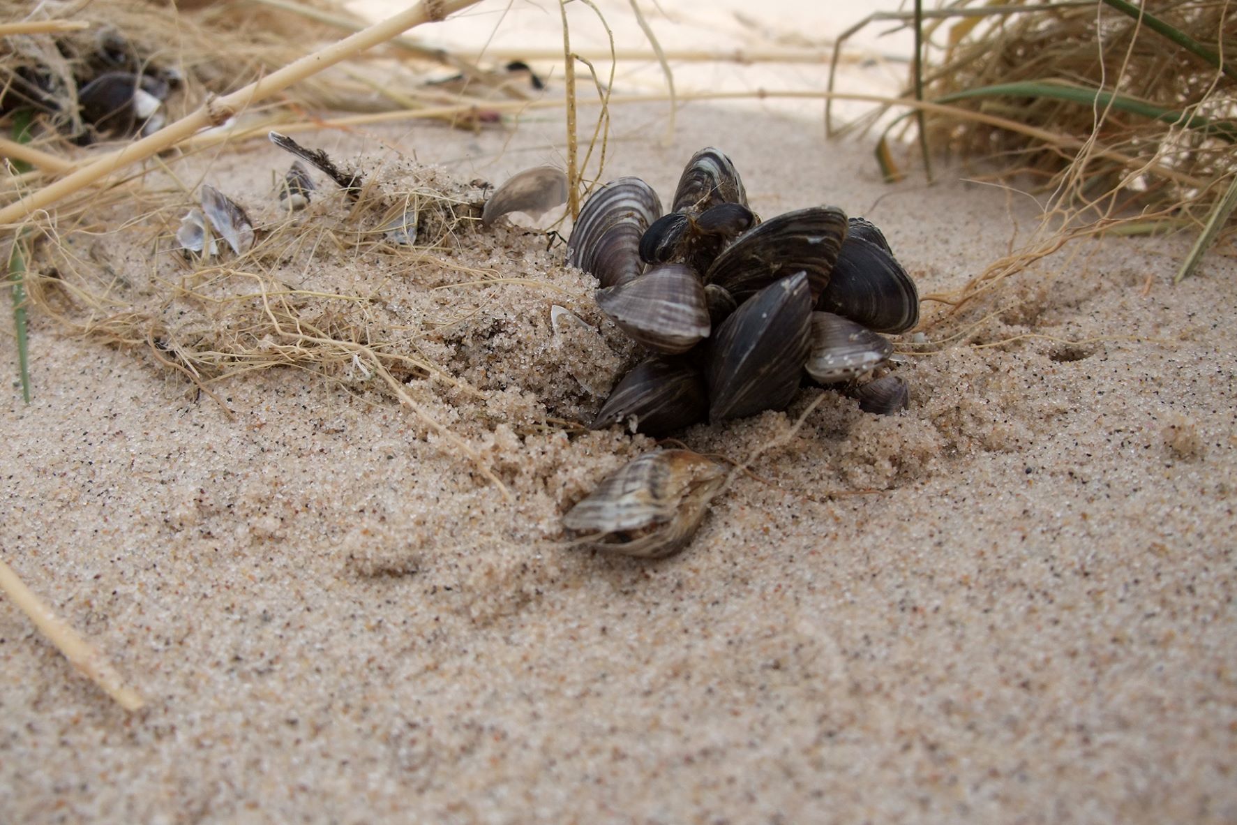
{"type": "Polygon", "coordinates": [[[563,516],[595,549],[657,559],[687,547],[725,482],[722,466],[691,450],[644,453],[563,516]]]}

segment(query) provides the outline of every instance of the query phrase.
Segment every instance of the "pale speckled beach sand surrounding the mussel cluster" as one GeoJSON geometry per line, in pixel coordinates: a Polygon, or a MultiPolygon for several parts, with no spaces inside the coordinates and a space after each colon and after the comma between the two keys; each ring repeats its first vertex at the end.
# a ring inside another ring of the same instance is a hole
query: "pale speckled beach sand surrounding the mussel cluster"
{"type": "MultiPolygon", "coordinates": [[[[824,143],[815,118],[689,106],[663,146],[649,137],[663,108],[615,116],[607,176],[668,195],[694,150],[721,146],[766,216],[835,203],[877,221],[922,294],[1034,228],[1030,199],[966,182],[972,169],[881,183],[870,145],[824,143]]],[[[553,162],[560,135],[538,115],[513,137],[417,125],[317,145],[364,152],[391,190],[466,188],[553,162]]],[[[287,161],[255,143],[197,171],[265,220],[287,161]]],[[[346,204],[310,209],[317,231],[346,204]]],[[[150,292],[183,266],[151,256],[166,218],[99,237],[95,262],[200,341],[186,330],[204,304],[150,292]]],[[[654,444],[570,424],[600,406],[590,381],[638,354],[536,234],[461,230],[439,255],[455,266],[395,266],[365,245],[271,265],[298,288],[370,296],[334,318],[365,318],[476,388],[400,376],[510,500],[364,365],[209,385],[229,417],[148,349],[36,312],[35,398],[0,395],[0,548],[148,704],[110,703],[0,604],[0,810],[1237,821],[1237,261],[1218,249],[1174,287],[1190,240],[1080,241],[959,318],[927,303],[929,339],[970,333],[905,356],[899,416],[804,390],[785,413],[684,430],[740,461],[784,443],[654,563],[568,547],[559,528],[654,444]],[[536,283],[460,286],[476,280],[460,265],[536,283]],[[597,330],[591,353],[555,338],[555,303],[597,330]],[[998,344],[1025,333],[1053,340],[998,344]]],[[[17,375],[7,335],[0,374],[17,375]]]]}

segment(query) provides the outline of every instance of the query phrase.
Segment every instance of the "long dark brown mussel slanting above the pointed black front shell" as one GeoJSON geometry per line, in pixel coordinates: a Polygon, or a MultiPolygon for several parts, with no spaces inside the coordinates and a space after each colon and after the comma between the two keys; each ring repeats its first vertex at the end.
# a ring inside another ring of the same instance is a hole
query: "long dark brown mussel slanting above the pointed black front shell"
{"type": "Polygon", "coordinates": [[[845,237],[846,214],[836,207],[788,212],[740,235],[704,280],[743,301],[779,278],[805,272],[815,299],[829,283],[845,237]]]}

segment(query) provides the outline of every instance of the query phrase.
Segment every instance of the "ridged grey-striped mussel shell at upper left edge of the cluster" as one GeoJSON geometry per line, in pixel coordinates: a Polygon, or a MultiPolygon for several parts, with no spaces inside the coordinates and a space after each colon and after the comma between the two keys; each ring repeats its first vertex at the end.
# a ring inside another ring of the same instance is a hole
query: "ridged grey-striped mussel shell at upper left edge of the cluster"
{"type": "Polygon", "coordinates": [[[596,276],[602,287],[640,276],[640,239],[661,218],[662,202],[636,177],[611,181],[585,202],[567,242],[567,262],[596,276]]]}

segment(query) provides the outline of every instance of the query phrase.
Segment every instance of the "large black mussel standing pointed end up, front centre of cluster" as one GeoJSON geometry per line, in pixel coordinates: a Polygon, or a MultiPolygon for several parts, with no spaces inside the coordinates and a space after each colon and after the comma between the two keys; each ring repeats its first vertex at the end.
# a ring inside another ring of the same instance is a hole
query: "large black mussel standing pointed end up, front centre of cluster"
{"type": "Polygon", "coordinates": [[[705,380],[709,419],[784,409],[808,357],[811,292],[799,272],[748,298],[717,329],[705,380]]]}

